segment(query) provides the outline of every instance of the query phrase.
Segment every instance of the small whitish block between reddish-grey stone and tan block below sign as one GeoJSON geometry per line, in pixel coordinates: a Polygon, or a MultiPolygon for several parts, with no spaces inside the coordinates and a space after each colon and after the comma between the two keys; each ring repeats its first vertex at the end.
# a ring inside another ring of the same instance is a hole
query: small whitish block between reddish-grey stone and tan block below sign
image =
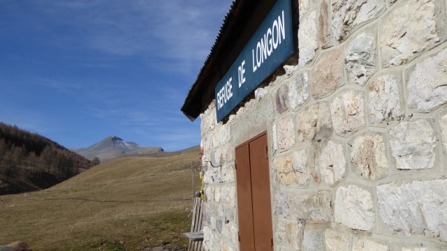
{"type": "Polygon", "coordinates": [[[288,86],[288,100],[292,109],[309,100],[309,73],[298,74],[288,86]]]}

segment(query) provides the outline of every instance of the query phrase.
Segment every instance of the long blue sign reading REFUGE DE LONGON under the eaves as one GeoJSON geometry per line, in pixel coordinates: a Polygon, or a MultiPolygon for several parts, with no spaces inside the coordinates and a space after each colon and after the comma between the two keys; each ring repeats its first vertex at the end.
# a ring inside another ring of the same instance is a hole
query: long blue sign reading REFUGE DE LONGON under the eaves
{"type": "Polygon", "coordinates": [[[291,0],[278,0],[215,89],[217,122],[293,53],[291,0]]]}

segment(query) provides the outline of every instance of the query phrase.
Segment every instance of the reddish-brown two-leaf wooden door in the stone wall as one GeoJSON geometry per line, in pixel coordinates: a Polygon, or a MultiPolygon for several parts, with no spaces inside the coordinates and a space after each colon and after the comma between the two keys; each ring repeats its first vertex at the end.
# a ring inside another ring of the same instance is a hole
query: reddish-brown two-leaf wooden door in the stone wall
{"type": "Polygon", "coordinates": [[[241,251],[273,250],[267,134],[236,148],[237,212],[241,251]]]}

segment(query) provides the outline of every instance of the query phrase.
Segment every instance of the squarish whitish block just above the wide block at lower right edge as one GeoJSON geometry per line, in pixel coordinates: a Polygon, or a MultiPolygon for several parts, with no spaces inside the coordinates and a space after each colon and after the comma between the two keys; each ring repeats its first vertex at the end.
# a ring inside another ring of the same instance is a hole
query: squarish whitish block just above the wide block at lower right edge
{"type": "Polygon", "coordinates": [[[434,166],[434,131],[430,123],[423,119],[402,122],[392,128],[390,147],[397,169],[426,169],[434,166]]]}

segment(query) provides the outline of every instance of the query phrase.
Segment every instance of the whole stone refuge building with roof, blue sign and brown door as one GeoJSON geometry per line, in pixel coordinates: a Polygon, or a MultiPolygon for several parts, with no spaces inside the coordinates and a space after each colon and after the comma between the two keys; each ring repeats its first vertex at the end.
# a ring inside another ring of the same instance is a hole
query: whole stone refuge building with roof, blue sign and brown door
{"type": "Polygon", "coordinates": [[[447,250],[446,8],[234,1],[182,107],[205,250],[447,250]]]}

